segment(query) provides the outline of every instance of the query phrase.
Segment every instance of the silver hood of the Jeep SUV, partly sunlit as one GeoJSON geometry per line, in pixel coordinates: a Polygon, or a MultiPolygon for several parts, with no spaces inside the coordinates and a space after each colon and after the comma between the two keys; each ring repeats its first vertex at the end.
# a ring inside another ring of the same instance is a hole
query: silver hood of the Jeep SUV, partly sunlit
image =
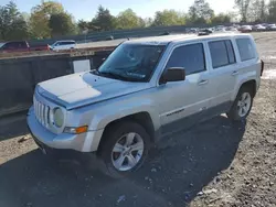
{"type": "Polygon", "coordinates": [[[130,83],[88,73],[73,74],[40,83],[38,92],[66,109],[116,98],[149,88],[147,83],[130,83]]]}

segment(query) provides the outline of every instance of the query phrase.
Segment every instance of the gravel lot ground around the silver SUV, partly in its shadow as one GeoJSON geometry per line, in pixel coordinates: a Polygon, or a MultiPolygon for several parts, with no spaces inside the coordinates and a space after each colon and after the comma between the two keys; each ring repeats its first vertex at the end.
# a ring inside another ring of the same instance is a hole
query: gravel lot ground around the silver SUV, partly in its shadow
{"type": "Polygon", "coordinates": [[[45,157],[24,113],[2,118],[0,207],[276,206],[276,33],[254,35],[266,73],[247,121],[221,116],[178,133],[125,179],[103,175],[96,160],[45,157]]]}

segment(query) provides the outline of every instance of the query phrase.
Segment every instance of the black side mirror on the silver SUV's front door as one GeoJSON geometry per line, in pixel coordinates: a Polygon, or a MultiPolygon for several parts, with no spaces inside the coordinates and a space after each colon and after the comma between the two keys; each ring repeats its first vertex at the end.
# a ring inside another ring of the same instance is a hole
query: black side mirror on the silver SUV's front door
{"type": "Polygon", "coordinates": [[[167,84],[168,81],[183,81],[185,80],[185,69],[183,67],[171,67],[161,76],[159,84],[167,84]]]}

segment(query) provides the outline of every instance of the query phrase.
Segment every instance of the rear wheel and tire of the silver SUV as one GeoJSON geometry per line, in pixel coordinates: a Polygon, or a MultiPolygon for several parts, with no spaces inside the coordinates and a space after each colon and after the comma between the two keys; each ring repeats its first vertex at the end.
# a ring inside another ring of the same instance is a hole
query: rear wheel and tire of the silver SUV
{"type": "Polygon", "coordinates": [[[243,86],[237,92],[236,99],[233,102],[230,111],[226,113],[232,121],[242,121],[247,118],[253,105],[253,90],[251,87],[243,86]],[[245,97],[247,100],[245,101],[245,97]],[[241,107],[242,105],[242,107],[241,107]],[[243,109],[242,109],[243,108],[243,109]]]}

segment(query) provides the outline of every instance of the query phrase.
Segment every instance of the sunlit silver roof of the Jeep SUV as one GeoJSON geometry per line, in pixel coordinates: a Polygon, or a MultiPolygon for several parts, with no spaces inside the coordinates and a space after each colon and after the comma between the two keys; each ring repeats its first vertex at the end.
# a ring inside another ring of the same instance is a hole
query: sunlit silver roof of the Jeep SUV
{"type": "Polygon", "coordinates": [[[250,34],[230,32],[230,33],[213,33],[204,36],[199,36],[197,34],[178,34],[178,35],[164,35],[164,36],[150,36],[141,37],[136,40],[127,41],[128,43],[146,43],[146,44],[160,44],[164,45],[170,42],[180,42],[189,40],[209,40],[213,37],[231,37],[231,36],[248,36],[250,34]]]}

